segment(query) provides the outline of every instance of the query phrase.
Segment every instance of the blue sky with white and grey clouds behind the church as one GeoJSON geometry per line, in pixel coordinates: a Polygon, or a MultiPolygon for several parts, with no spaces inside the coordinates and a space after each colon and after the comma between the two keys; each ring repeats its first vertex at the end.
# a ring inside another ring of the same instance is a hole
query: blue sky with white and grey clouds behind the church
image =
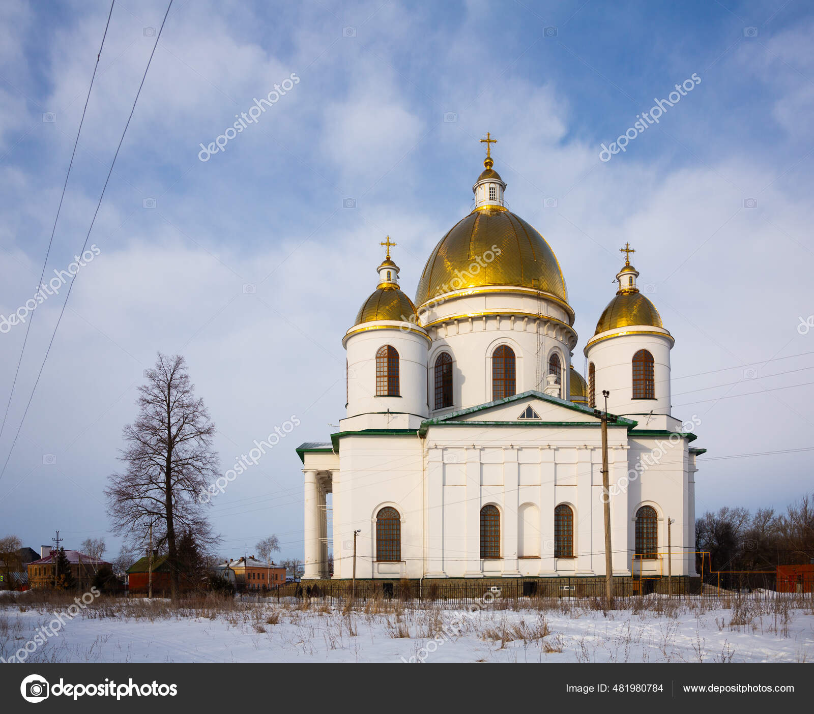
{"type": "MultiPolygon", "coordinates": [[[[36,290],[109,9],[0,5],[2,316],[36,290]]],[[[165,11],[116,0],[46,280],[85,241],[165,11]]],[[[66,546],[103,536],[118,550],[102,490],[161,350],[186,356],[224,467],[301,421],[211,511],[222,555],[277,533],[282,555],[301,556],[294,449],[344,416],[340,341],[374,289],[379,241],[398,243],[413,294],[470,210],[487,131],[512,210],[562,265],[575,365],[629,241],[676,337],[673,413],[702,421],[698,512],[785,507],[811,490],[799,450],[814,429],[814,329],[799,325],[814,314],[812,32],[799,0],[175,0],[90,234],[98,255],[0,479],[0,535],[37,548],[59,529],[66,546]],[[199,159],[292,73],[274,106],[199,159]],[[600,159],[694,74],[659,124],[600,159]],[[779,453],[720,458],[767,451],[779,453]]],[[[34,313],[0,463],[67,289],[34,313]]],[[[24,335],[0,334],[2,411],[24,335]]]]}

